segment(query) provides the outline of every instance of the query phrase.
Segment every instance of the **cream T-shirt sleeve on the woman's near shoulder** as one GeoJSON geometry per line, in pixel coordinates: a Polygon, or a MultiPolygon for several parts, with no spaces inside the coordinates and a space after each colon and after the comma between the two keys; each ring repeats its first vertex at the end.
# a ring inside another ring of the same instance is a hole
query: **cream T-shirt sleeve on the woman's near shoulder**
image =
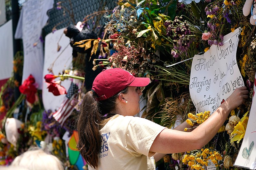
{"type": "Polygon", "coordinates": [[[129,151],[134,156],[141,154],[152,156],[154,153],[151,152],[152,154],[150,154],[149,149],[156,136],[164,129],[165,127],[150,120],[133,117],[129,122],[126,134],[126,144],[129,151]]]}

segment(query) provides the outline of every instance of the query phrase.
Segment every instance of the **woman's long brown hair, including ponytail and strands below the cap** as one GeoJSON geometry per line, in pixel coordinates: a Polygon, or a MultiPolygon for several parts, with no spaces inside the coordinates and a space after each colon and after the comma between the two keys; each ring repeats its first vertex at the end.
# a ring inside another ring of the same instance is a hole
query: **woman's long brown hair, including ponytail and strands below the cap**
{"type": "Polygon", "coordinates": [[[96,101],[96,94],[92,91],[84,95],[80,115],[77,121],[78,144],[77,148],[89,166],[98,167],[98,152],[100,151],[100,124],[114,113],[116,99],[120,93],[127,93],[128,87],[114,96],[96,101]]]}

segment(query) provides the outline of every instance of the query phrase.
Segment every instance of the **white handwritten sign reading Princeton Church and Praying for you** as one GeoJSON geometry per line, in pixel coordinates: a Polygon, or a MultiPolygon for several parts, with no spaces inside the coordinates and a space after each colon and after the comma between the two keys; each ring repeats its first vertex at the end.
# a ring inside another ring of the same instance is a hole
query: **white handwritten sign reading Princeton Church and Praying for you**
{"type": "Polygon", "coordinates": [[[244,81],[236,62],[239,28],[224,36],[223,46],[193,58],[189,92],[197,112],[213,113],[244,81]]]}

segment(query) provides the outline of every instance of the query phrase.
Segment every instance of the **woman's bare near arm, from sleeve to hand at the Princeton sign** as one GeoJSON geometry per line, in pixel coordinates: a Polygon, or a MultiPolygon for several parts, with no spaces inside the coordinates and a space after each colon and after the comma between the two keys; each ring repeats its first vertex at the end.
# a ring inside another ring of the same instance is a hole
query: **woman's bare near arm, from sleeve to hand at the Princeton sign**
{"type": "Polygon", "coordinates": [[[248,98],[247,94],[246,87],[237,88],[204,123],[192,132],[164,129],[154,140],[150,152],[179,153],[201,149],[216,135],[230,112],[248,98]]]}

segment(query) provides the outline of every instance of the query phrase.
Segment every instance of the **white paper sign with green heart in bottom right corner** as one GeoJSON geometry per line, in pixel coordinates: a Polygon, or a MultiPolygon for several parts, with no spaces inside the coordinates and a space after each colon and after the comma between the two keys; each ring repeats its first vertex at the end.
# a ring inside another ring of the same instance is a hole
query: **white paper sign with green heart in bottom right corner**
{"type": "MultiPolygon", "coordinates": [[[[255,87],[255,82],[254,82],[254,87],[255,87]]],[[[256,169],[255,135],[256,135],[256,100],[255,100],[255,97],[253,97],[252,107],[250,110],[250,115],[249,115],[249,120],[248,120],[247,128],[245,131],[245,135],[244,135],[244,140],[238,152],[234,166],[256,169]]]]}

